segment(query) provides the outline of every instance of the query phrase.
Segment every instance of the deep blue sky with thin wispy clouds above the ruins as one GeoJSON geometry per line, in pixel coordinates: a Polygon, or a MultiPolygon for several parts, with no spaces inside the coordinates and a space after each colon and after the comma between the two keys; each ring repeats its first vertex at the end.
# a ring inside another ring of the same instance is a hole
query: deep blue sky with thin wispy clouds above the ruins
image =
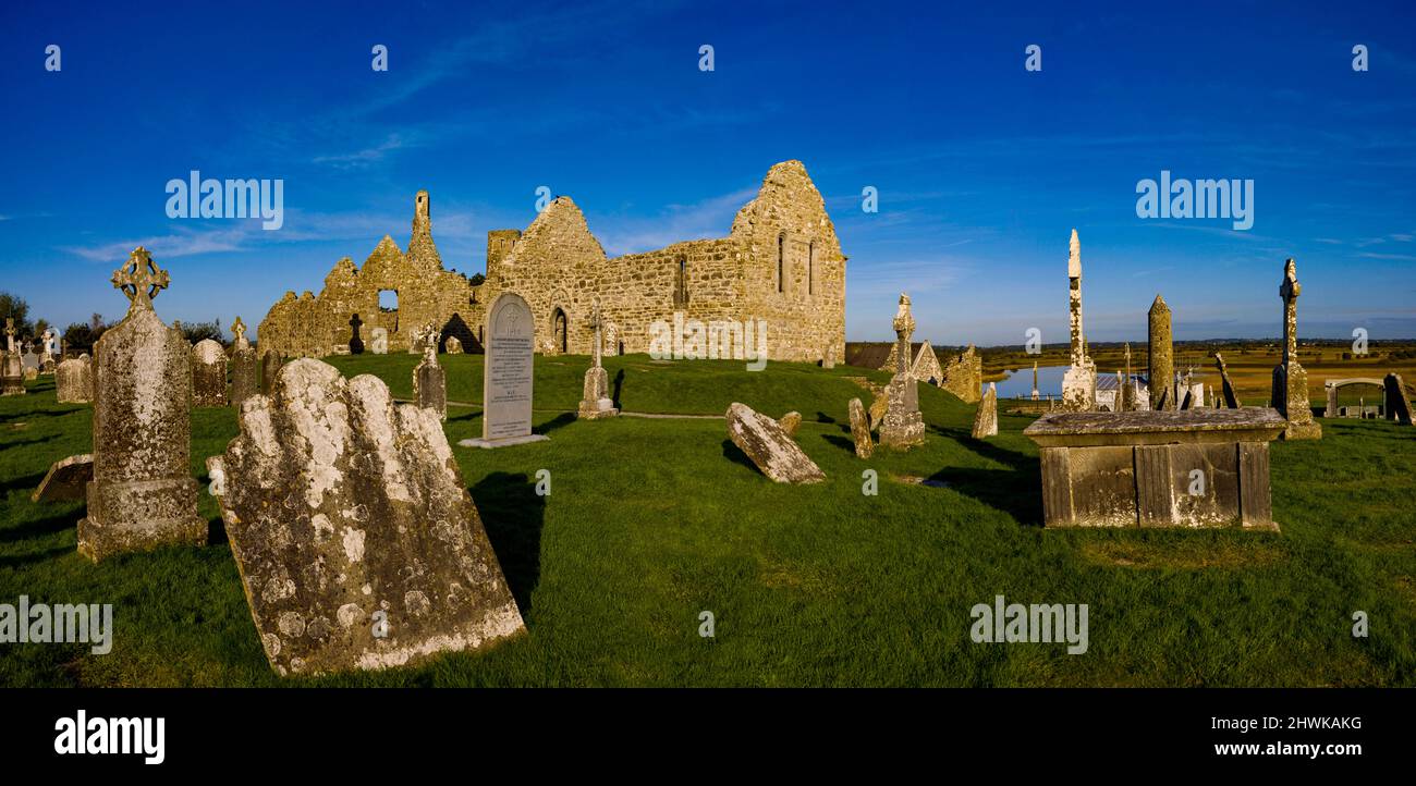
{"type": "Polygon", "coordinates": [[[1301,336],[1416,337],[1410,3],[978,6],[7,3],[0,289],[51,323],[119,317],[108,278],[144,244],[164,319],[253,327],[406,245],[418,188],[470,273],[538,186],[616,255],[726,235],[800,159],[850,256],[850,340],[891,337],[908,290],[936,344],[1065,341],[1073,227],[1093,341],[1144,338],[1157,292],[1178,338],[1277,336],[1286,256],[1301,336]],[[283,178],[285,225],[167,218],[191,170],[283,178]],[[1253,228],[1137,218],[1161,170],[1252,178],[1253,228]]]}

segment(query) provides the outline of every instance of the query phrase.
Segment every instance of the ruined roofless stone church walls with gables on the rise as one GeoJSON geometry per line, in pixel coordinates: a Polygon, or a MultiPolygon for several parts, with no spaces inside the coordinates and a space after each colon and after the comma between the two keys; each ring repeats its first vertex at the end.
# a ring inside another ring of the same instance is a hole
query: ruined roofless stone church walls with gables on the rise
{"type": "Polygon", "coordinates": [[[341,259],[317,297],[287,292],[261,323],[259,340],[289,357],[348,351],[350,316],[357,313],[361,338],[368,341],[375,326],[385,327],[389,351],[408,350],[415,326],[428,321],[443,326],[443,340],[457,336],[473,350],[483,338],[487,304],[503,292],[531,306],[538,353],[590,354],[590,312],[599,299],[603,320],[612,326],[606,331],[612,354],[649,351],[653,323],[673,324],[681,313],[704,323],[766,320],[770,360],[845,360],[845,256],[826,203],[800,161],[767,171],[726,238],[613,259],[581,208],[569,197],[556,197],[524,232],[487,234],[480,286],[442,269],[428,194],[419,191],[406,254],[385,237],[361,268],[341,259]],[[379,310],[382,289],[398,292],[398,312],[379,310]]]}

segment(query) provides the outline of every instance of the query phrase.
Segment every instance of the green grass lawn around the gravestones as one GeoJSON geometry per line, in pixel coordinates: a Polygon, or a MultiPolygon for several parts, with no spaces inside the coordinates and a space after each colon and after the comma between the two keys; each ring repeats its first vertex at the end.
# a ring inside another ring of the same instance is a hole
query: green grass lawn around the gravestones
{"type": "MultiPolygon", "coordinates": [[[[331,358],[395,395],[413,355],[331,358]]],[[[449,398],[480,398],[480,357],[445,357],[449,398]]],[[[268,667],[214,500],[205,548],[92,565],[82,503],[34,504],[51,462],[89,450],[91,409],[52,378],[0,399],[0,602],[113,603],[115,644],[0,644],[7,685],[1416,685],[1416,429],[1325,421],[1321,442],[1274,443],[1279,535],[1041,527],[1038,459],[1003,416],[969,438],[973,406],[920,387],[927,443],[862,462],[837,367],[606,358],[634,412],[721,415],[743,401],[800,411],[828,480],[767,482],[718,419],[578,422],[585,358],[537,358],[549,442],[456,449],[530,634],[418,670],[279,680],[268,667]],[[552,493],[534,493],[549,469],[552,493]],[[861,493],[862,470],[879,494],[861,493]],[[910,479],[933,479],[926,486],[910,479]],[[1087,603],[1090,649],[976,644],[994,595],[1087,603]],[[698,636],[714,612],[716,636],[698,636]],[[1364,610],[1371,636],[1354,639],[1364,610]]],[[[449,439],[480,435],[453,406],[449,439]]],[[[229,408],[193,415],[193,474],[236,433],[229,408]]]]}

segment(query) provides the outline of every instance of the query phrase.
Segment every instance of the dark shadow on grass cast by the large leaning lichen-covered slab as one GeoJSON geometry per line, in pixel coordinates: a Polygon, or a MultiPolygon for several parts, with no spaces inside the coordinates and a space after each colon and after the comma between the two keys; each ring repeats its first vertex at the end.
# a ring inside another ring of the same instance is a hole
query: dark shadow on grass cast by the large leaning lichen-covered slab
{"type": "Polygon", "coordinates": [[[541,528],[545,497],[525,473],[494,472],[469,489],[487,540],[507,576],[521,616],[531,613],[531,595],[541,581],[541,528]]]}

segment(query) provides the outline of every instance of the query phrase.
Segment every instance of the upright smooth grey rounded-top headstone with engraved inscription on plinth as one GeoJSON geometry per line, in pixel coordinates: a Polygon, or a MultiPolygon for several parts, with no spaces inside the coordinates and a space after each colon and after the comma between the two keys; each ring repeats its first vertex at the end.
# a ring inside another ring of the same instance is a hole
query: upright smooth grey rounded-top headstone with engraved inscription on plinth
{"type": "Polygon", "coordinates": [[[531,433],[531,382],[535,323],[520,295],[504,292],[487,310],[486,363],[481,371],[481,439],[463,448],[500,448],[541,442],[531,433]]]}

